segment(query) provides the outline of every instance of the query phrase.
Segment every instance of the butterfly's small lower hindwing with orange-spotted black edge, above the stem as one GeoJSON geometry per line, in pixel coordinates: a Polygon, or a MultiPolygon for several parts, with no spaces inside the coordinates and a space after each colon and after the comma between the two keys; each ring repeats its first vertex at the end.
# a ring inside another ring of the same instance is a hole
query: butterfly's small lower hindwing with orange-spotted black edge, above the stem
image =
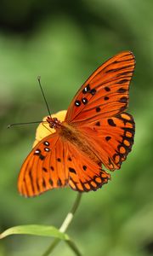
{"type": "Polygon", "coordinates": [[[91,160],[87,154],[79,151],[73,144],[66,142],[67,155],[65,166],[69,172],[71,189],[88,192],[97,190],[111,178],[111,175],[101,169],[101,165],[91,160]]]}

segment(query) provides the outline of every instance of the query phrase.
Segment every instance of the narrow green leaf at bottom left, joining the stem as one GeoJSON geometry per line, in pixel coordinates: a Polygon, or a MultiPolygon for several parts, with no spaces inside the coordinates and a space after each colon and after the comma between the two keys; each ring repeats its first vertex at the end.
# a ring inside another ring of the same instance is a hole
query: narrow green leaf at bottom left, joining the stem
{"type": "Polygon", "coordinates": [[[10,235],[34,235],[34,236],[51,236],[51,237],[57,237],[61,240],[70,240],[69,236],[67,236],[65,233],[60,232],[58,229],[56,229],[54,226],[45,226],[45,225],[37,225],[37,224],[31,224],[31,225],[22,225],[22,226],[15,226],[12,228],[9,228],[8,230],[3,231],[3,233],[0,234],[0,239],[3,239],[6,236],[10,235]]]}

